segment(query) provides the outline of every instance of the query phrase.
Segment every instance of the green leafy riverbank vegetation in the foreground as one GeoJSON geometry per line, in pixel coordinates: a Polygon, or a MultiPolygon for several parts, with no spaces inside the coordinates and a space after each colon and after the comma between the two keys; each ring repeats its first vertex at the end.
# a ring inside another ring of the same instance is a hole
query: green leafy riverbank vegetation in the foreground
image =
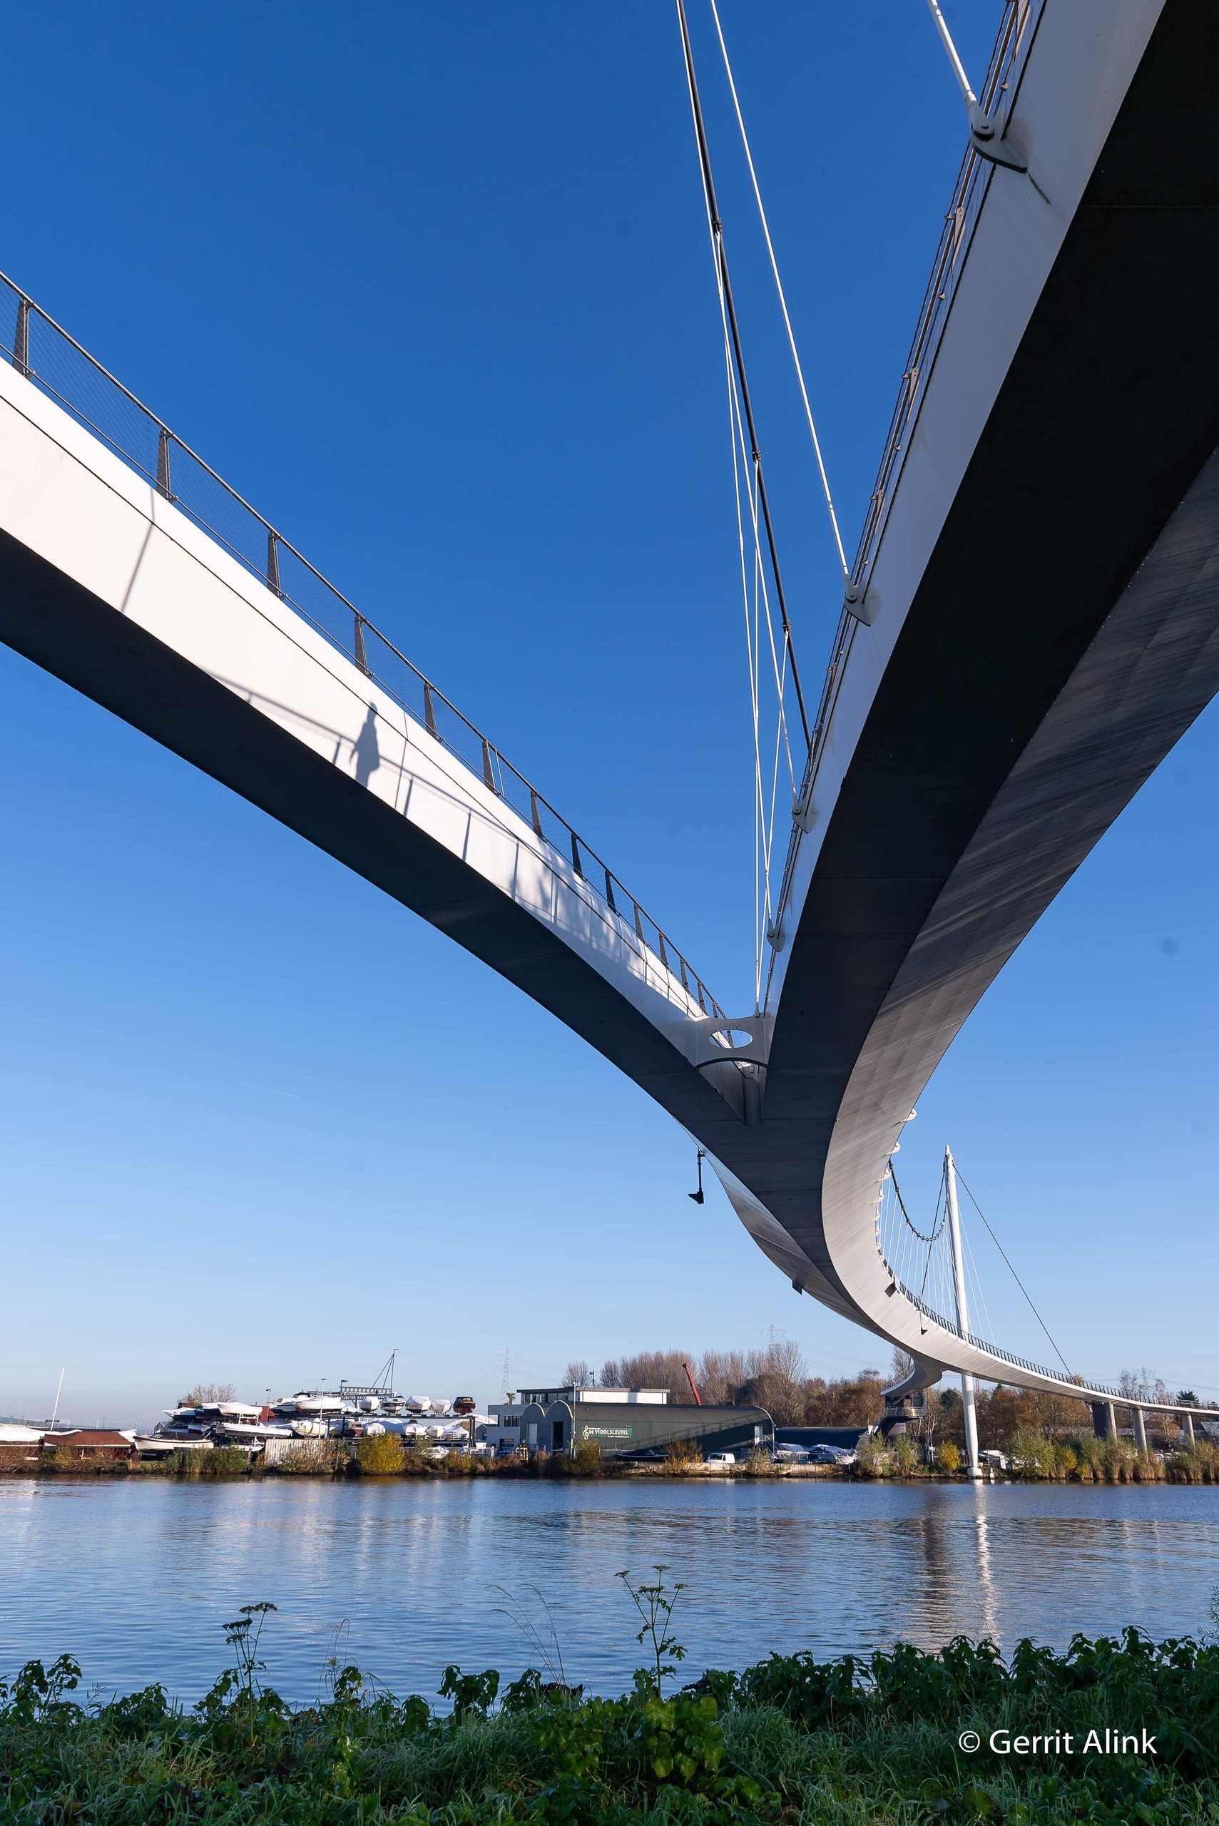
{"type": "Polygon", "coordinates": [[[1126,1631],[1077,1638],[1066,1654],[1022,1642],[1004,1662],[989,1643],[958,1638],[938,1653],[772,1654],[679,1687],[675,1589],[661,1579],[630,1596],[648,1665],[613,1700],[584,1698],[562,1665],[507,1685],[491,1669],[453,1665],[440,1711],[332,1658],[319,1702],[292,1709],[265,1684],[259,1631],[272,1605],[246,1607],[226,1627],[232,1665],[190,1711],[161,1685],[80,1704],[68,1656],[31,1662],[0,1685],[0,1817],[1201,1826],[1219,1811],[1215,1645],[1155,1647],[1126,1631]]]}

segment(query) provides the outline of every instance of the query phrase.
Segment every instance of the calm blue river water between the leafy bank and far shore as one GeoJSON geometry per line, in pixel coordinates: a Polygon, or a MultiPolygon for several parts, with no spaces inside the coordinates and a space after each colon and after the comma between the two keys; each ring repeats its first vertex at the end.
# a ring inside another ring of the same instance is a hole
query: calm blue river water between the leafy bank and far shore
{"type": "Polygon", "coordinates": [[[1212,1627],[1219,1488],[630,1479],[0,1485],[0,1674],[77,1656],[84,1685],[151,1680],[195,1700],[226,1665],[223,1623],[277,1605],[266,1680],[312,1700],[339,1631],[394,1693],[447,1662],[538,1663],[619,1693],[642,1660],[615,1578],[684,1583],[686,1665],[772,1649],[869,1651],[953,1634],[1064,1647],[1075,1631],[1212,1627]]]}

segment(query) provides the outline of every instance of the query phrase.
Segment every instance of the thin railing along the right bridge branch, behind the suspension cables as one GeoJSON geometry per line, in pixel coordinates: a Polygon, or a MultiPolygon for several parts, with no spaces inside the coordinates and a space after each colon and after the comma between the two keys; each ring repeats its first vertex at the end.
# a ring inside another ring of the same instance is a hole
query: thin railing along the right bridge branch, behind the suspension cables
{"type": "MultiPolygon", "coordinates": [[[[985,82],[982,84],[982,93],[978,97],[982,108],[989,115],[995,115],[1004,108],[1011,108],[1015,100],[1020,75],[1024,71],[1024,60],[1037,35],[1037,24],[1044,4],[1046,0],[1013,0],[1013,4],[1004,7],[1004,22],[1000,26],[985,73],[985,82]]],[[[880,469],[876,471],[876,484],[869,497],[863,531],[860,533],[860,546],[850,568],[850,582],[860,593],[867,590],[881,539],[885,537],[885,526],[889,524],[889,513],[898,480],[901,477],[901,466],[905,462],[911,435],[934,369],[940,340],[953,309],[956,283],[965,265],[964,254],[969,248],[993,172],[995,166],[982,159],[974,152],[973,144],[967,146],[960,172],[956,173],[956,184],[953,186],[953,201],[943,217],[940,245],[931,267],[927,290],[923,292],[923,303],[914,327],[914,340],[901,373],[901,387],[892,409],[892,418],[889,420],[889,433],[885,436],[880,469]]],[[[834,716],[834,705],[838,703],[838,692],[858,628],[858,619],[843,608],[834,632],[834,646],[830,648],[830,659],[825,668],[821,696],[818,699],[808,760],[805,763],[805,776],[799,791],[801,803],[807,803],[814,792],[818,769],[828,740],[830,719],[834,716]]],[[[787,911],[799,836],[799,825],[794,824],[783,864],[779,898],[776,902],[777,911],[772,926],[772,931],[776,933],[779,933],[783,915],[787,911]]]]}

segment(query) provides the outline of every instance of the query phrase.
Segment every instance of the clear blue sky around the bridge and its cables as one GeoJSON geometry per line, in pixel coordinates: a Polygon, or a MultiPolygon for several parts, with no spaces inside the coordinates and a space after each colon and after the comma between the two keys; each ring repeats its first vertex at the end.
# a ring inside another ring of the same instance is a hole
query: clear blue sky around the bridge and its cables
{"type": "MultiPolygon", "coordinates": [[[[1000,0],[949,11],[980,71],[1000,0]]],[[[849,546],[962,153],[922,5],[724,0],[849,546]]],[[[839,582],[710,16],[692,5],[805,676],[839,582]]],[[[49,5],[0,265],[279,524],[752,999],[723,354],[668,5],[49,5]]],[[[0,650],[0,1410],[146,1421],[403,1351],[427,1393],[796,1337],[668,1118],[507,984],[0,650]]],[[[951,732],[945,732],[951,740],[951,732]]],[[[1208,1244],[1219,723],[958,1039],[953,1141],[1073,1366],[1219,1397],[1208,1244]]],[[[980,1264],[996,1331],[1047,1346],[980,1264]]]]}

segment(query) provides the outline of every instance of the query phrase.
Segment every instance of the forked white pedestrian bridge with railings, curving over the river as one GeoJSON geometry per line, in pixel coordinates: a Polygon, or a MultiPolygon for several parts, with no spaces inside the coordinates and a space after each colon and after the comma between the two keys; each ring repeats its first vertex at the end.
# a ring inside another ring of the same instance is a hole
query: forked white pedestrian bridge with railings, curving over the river
{"type": "Polygon", "coordinates": [[[821,692],[759,1010],[301,553],[0,287],[0,637],[584,1035],[805,1293],[1106,1402],[898,1284],[916,1097],[1219,687],[1219,13],[1015,0],[821,692]]]}

